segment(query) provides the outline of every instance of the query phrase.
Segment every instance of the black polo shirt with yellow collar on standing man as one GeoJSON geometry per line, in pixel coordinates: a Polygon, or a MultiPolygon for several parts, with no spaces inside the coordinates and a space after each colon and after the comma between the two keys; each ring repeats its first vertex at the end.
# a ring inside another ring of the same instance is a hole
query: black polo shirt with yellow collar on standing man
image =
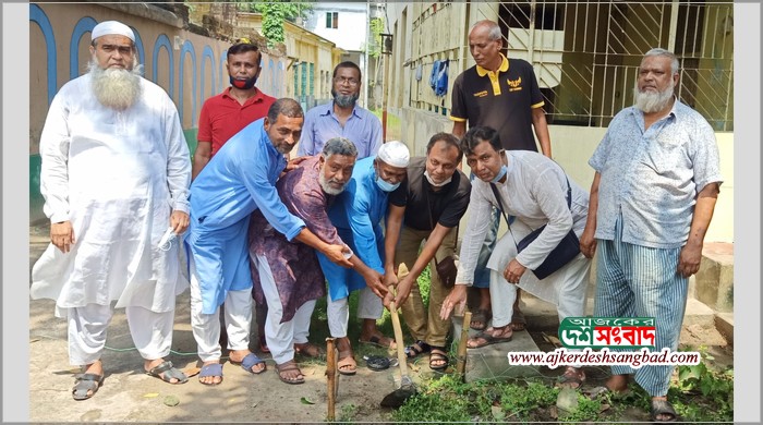
{"type": "Polygon", "coordinates": [[[526,61],[501,57],[497,73],[474,65],[456,78],[450,119],[495,129],[507,150],[537,151],[532,110],[545,102],[535,71],[526,61]]]}

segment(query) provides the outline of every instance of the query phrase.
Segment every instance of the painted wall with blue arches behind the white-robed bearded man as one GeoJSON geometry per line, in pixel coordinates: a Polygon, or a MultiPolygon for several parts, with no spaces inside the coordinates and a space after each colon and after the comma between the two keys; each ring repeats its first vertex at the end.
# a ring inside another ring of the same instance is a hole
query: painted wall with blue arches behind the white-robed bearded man
{"type": "MultiPolygon", "coordinates": [[[[134,9],[98,3],[31,3],[29,63],[35,64],[29,66],[31,221],[45,218],[38,151],[48,106],[63,84],[85,72],[90,31],[108,20],[121,21],[135,32],[144,76],[165,88],[174,101],[192,153],[204,100],[228,86],[225,61],[230,44],[182,29],[182,20],[171,12],[137,3],[134,9]]],[[[283,57],[263,54],[257,87],[270,96],[286,96],[286,65],[283,57]]]]}

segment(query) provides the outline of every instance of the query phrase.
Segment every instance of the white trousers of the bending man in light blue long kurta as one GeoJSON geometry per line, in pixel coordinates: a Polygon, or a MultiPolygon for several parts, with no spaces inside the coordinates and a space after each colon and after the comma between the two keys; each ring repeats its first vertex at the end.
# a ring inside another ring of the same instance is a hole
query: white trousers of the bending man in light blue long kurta
{"type": "MultiPolygon", "coordinates": [[[[202,292],[193,256],[191,266],[191,328],[202,362],[220,360],[220,307],[213,314],[202,313],[202,292]]],[[[228,332],[228,350],[249,350],[252,328],[252,290],[228,291],[223,303],[223,317],[228,332]]]]}

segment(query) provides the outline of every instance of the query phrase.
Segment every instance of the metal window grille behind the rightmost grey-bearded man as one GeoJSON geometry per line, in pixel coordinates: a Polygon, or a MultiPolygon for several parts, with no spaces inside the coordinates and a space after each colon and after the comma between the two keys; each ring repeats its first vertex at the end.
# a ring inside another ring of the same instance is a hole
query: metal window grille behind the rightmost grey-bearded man
{"type": "Polygon", "coordinates": [[[504,1],[497,9],[506,53],[533,63],[549,123],[606,126],[632,105],[643,53],[663,47],[679,58],[677,96],[716,131],[734,130],[731,2],[504,1]]]}

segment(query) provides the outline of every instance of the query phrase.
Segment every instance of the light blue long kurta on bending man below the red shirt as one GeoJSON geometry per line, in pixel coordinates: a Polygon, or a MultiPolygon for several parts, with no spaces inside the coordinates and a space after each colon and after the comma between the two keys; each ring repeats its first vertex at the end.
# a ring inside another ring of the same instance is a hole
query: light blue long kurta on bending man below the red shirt
{"type": "Polygon", "coordinates": [[[290,241],[305,226],[278,196],[275,184],[286,159],[263,123],[257,120],[231,137],[191,184],[186,244],[199,277],[203,314],[214,314],[228,291],[252,288],[246,231],[254,210],[290,241]]]}

